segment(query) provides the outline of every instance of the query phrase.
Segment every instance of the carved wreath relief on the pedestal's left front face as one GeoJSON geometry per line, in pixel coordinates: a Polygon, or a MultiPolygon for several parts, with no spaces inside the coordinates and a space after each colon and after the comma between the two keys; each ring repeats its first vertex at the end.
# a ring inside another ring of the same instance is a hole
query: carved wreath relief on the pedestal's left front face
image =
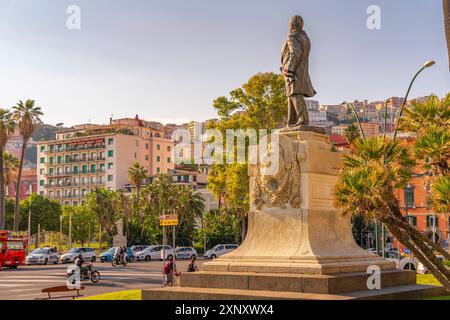
{"type": "MultiPolygon", "coordinates": [[[[300,207],[302,199],[298,148],[298,143],[280,136],[278,171],[271,175],[263,175],[261,169],[270,166],[271,163],[258,162],[254,171],[254,188],[252,190],[252,204],[256,209],[259,210],[262,206],[285,207],[286,204],[293,208],[300,207]]],[[[266,159],[270,158],[272,149],[272,145],[269,143],[265,152],[266,159]]]]}

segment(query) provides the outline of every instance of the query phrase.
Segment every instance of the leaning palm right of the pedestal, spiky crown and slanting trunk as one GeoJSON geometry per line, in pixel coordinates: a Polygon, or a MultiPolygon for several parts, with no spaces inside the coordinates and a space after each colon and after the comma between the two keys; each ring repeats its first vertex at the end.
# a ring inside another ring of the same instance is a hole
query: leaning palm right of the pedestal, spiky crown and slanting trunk
{"type": "Polygon", "coordinates": [[[394,190],[410,179],[415,161],[406,144],[387,137],[358,139],[354,153],[346,156],[335,189],[336,206],[349,217],[378,220],[450,291],[450,271],[433,249],[447,259],[450,254],[409,225],[403,218],[394,190]],[[430,248],[432,247],[432,248],[430,248]]]}

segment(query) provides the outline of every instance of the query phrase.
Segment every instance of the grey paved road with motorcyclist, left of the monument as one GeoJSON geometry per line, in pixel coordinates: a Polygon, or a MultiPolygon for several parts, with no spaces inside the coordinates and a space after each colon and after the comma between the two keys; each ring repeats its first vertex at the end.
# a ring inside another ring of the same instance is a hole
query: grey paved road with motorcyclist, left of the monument
{"type": "MultiPolygon", "coordinates": [[[[177,261],[178,271],[185,271],[189,261],[177,261]]],[[[198,265],[202,263],[198,261],[198,265]]],[[[65,285],[67,264],[21,266],[16,270],[0,271],[0,300],[29,300],[42,298],[43,288],[65,285]]],[[[83,281],[85,296],[129,289],[157,288],[162,284],[162,262],[130,263],[126,268],[112,267],[110,263],[95,263],[101,280],[83,281]]],[[[58,294],[64,295],[64,293],[58,294]]]]}

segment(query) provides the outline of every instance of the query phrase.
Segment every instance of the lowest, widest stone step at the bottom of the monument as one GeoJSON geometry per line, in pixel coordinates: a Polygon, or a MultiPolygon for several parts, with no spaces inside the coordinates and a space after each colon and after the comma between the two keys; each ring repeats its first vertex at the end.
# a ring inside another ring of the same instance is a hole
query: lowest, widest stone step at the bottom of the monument
{"type": "Polygon", "coordinates": [[[442,287],[409,285],[345,294],[171,287],[142,291],[142,300],[396,300],[445,294],[442,287]]]}

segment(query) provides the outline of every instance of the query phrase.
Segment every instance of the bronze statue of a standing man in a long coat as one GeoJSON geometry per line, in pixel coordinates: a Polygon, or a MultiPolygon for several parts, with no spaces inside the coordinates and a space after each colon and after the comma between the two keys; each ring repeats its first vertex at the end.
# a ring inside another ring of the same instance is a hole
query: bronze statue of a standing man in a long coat
{"type": "Polygon", "coordinates": [[[281,51],[281,73],[286,82],[288,97],[288,127],[308,125],[305,97],[316,94],[309,78],[309,51],[311,42],[303,30],[303,18],[293,16],[290,33],[281,51]]]}

